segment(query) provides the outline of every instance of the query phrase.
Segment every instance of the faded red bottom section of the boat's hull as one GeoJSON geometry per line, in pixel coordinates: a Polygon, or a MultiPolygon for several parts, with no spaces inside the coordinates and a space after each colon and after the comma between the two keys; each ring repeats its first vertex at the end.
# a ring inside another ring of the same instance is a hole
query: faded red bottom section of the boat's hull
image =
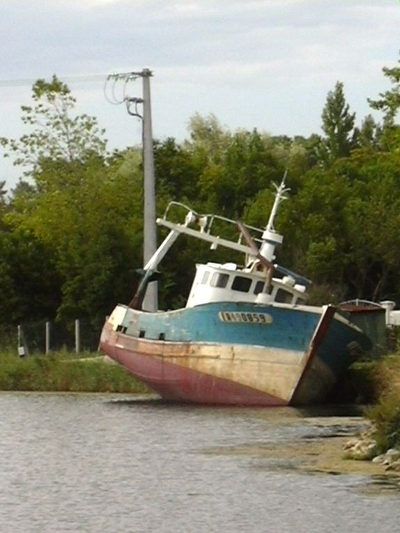
{"type": "Polygon", "coordinates": [[[102,343],[102,349],[163,399],[212,405],[282,406],[287,402],[251,387],[102,343]]]}

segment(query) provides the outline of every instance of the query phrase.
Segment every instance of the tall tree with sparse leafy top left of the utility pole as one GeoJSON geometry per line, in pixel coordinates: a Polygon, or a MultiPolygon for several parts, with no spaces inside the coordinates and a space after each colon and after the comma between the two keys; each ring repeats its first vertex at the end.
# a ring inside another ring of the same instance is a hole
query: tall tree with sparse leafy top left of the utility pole
{"type": "MultiPolygon", "coordinates": [[[[132,297],[130,266],[141,263],[140,158],[134,153],[130,159],[130,152],[106,158],[98,137],[102,130],[94,118],[70,117],[75,99],[56,77],[49,84],[38,80],[33,99],[34,108],[23,107],[24,123],[33,132],[20,141],[3,141],[17,164],[31,165],[29,176],[36,183],[19,183],[6,215],[12,239],[3,235],[4,250],[13,239],[19,245],[15,262],[8,254],[2,269],[11,281],[8,289],[15,301],[26,302],[38,301],[32,291],[53,293],[52,309],[48,301],[42,307],[47,316],[104,320],[118,300],[132,297]],[[30,277],[18,275],[22,268],[30,277]],[[29,284],[34,272],[56,280],[52,290],[29,284]]],[[[29,305],[19,309],[21,318],[29,318],[29,305]]]]}

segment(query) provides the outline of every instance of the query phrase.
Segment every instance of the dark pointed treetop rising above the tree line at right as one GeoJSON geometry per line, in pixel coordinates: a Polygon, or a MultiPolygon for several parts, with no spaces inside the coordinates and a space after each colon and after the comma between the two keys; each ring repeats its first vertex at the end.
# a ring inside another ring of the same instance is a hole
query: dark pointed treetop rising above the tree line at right
{"type": "Polygon", "coordinates": [[[328,162],[338,157],[346,157],[355,147],[356,130],[354,129],[355,113],[344,97],[343,84],[337,82],[334,91],[328,93],[322,111],[322,129],[325,133],[325,146],[328,162]]]}

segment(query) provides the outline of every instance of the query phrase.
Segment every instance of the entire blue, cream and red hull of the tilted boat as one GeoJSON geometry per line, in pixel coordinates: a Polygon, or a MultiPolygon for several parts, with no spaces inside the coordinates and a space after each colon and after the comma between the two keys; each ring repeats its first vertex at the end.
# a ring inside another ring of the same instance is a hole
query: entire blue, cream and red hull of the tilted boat
{"type": "Polygon", "coordinates": [[[155,314],[117,306],[100,343],[164,399],[214,405],[322,401],[369,348],[333,307],[231,302],[155,314]]]}

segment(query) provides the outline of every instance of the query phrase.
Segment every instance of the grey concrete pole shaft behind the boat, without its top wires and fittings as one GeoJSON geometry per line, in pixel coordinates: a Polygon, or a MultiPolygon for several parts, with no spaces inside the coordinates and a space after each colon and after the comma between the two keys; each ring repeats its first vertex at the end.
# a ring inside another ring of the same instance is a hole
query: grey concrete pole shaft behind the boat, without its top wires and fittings
{"type": "MultiPolygon", "coordinates": [[[[143,159],[144,159],[144,265],[157,249],[155,226],[155,178],[153,160],[153,132],[151,128],[151,70],[141,72],[143,78],[143,159]]],[[[143,309],[157,311],[157,281],[148,285],[143,309]]]]}

